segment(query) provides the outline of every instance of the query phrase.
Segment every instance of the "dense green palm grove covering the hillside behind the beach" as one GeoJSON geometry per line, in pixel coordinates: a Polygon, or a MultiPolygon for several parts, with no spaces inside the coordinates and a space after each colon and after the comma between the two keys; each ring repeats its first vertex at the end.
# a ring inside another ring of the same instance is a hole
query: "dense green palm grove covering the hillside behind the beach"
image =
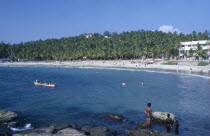
{"type": "Polygon", "coordinates": [[[207,39],[210,39],[208,31],[199,33],[193,31],[190,34],[144,30],[118,34],[105,31],[104,34],[94,33],[91,38],[86,38],[85,34],[82,34],[75,37],[19,44],[1,42],[0,58],[11,60],[17,60],[18,58],[28,60],[78,60],[84,57],[108,60],[136,59],[142,56],[146,58],[173,58],[178,56],[179,42],[207,39]]]}

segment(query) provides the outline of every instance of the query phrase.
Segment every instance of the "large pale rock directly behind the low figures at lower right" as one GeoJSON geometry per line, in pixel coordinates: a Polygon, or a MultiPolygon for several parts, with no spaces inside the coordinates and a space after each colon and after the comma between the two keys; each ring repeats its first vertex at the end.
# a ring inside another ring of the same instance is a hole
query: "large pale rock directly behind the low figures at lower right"
{"type": "Polygon", "coordinates": [[[155,120],[165,122],[167,119],[167,114],[170,114],[170,118],[174,121],[175,115],[169,112],[153,112],[152,116],[154,117],[155,120]]]}

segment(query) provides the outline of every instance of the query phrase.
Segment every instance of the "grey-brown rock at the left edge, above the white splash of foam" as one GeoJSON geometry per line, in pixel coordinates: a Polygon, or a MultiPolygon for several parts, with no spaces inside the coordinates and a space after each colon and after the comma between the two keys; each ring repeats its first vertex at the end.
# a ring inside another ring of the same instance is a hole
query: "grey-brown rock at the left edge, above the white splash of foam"
{"type": "Polygon", "coordinates": [[[0,122],[11,121],[17,117],[17,114],[12,111],[0,111],[0,122]]]}

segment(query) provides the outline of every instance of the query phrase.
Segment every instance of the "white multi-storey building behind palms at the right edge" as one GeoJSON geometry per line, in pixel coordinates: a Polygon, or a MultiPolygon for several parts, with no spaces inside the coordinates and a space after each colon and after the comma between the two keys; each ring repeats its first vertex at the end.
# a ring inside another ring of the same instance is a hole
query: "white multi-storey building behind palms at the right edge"
{"type": "Polygon", "coordinates": [[[189,54],[190,49],[197,50],[198,44],[200,44],[204,50],[208,50],[208,55],[210,56],[210,40],[180,42],[179,56],[184,56],[183,52],[189,54]]]}

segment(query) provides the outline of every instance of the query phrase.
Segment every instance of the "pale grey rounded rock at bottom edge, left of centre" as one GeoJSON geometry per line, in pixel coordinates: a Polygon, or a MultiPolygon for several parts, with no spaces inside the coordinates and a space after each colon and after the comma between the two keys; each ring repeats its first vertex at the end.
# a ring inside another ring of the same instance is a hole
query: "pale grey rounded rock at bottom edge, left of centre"
{"type": "Polygon", "coordinates": [[[58,131],[57,134],[58,135],[67,135],[67,136],[86,136],[82,132],[79,132],[76,129],[72,129],[72,128],[62,129],[62,130],[58,131]]]}

